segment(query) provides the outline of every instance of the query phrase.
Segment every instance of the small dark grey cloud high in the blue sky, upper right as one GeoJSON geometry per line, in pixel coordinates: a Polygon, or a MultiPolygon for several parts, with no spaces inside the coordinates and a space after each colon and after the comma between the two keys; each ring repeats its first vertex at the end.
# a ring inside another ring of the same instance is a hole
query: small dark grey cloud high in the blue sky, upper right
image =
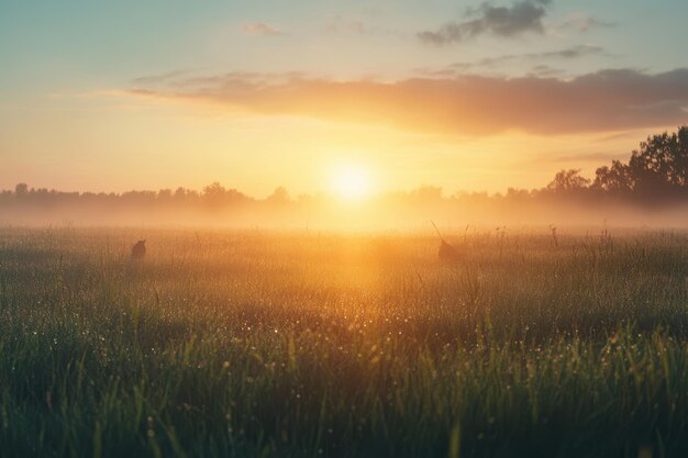
{"type": "Polygon", "coordinates": [[[525,32],[542,34],[545,30],[543,18],[550,3],[550,0],[522,0],[511,7],[495,7],[486,2],[469,10],[466,21],[448,22],[437,30],[419,32],[418,37],[425,44],[441,46],[485,34],[502,37],[525,32]]]}

